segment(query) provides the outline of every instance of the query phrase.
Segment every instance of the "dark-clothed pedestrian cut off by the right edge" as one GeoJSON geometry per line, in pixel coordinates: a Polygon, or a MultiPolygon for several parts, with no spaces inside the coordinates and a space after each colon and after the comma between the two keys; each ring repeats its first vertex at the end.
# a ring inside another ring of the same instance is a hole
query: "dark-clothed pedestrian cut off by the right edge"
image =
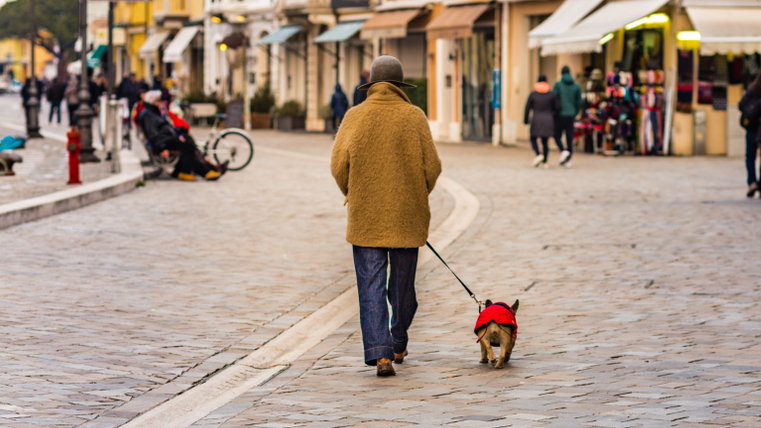
{"type": "Polygon", "coordinates": [[[756,153],[761,138],[761,71],[748,86],[740,100],[740,124],[745,128],[745,171],[748,183],[746,196],[752,198],[756,192],[761,197],[761,168],[756,175],[756,153]]]}

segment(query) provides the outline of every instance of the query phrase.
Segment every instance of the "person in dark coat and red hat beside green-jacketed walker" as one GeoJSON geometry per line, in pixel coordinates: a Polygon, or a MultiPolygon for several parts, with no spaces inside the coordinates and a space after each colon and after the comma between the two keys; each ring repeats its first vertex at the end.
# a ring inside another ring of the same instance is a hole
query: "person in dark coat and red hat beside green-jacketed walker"
{"type": "Polygon", "coordinates": [[[523,123],[531,124],[529,135],[531,148],[534,149],[534,168],[539,165],[547,167],[547,152],[549,151],[550,137],[555,135],[555,115],[558,111],[558,99],[554,92],[550,91],[547,77],[539,76],[534,91],[528,96],[526,109],[523,115],[523,123]],[[537,140],[542,142],[542,150],[539,150],[537,140]]]}

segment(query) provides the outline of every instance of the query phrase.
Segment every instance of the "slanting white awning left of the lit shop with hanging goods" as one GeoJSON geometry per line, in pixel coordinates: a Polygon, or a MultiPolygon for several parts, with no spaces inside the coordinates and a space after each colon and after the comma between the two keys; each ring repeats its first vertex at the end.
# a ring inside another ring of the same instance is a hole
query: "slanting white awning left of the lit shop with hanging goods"
{"type": "Polygon", "coordinates": [[[570,30],[542,41],[542,55],[600,52],[600,39],[663,7],[668,0],[625,0],[608,3],[570,30]]]}

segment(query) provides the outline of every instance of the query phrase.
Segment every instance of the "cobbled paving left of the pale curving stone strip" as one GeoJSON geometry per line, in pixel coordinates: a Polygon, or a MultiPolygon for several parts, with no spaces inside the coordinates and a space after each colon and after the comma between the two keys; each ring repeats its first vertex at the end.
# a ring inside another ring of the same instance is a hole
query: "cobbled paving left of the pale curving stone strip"
{"type": "MultiPolygon", "coordinates": [[[[0,426],[115,426],[256,349],[352,275],[328,136],[257,136],[218,182],[150,181],[0,231],[0,426]],[[171,381],[171,382],[170,382],[171,381]]],[[[441,190],[434,223],[451,210],[441,190]]]]}

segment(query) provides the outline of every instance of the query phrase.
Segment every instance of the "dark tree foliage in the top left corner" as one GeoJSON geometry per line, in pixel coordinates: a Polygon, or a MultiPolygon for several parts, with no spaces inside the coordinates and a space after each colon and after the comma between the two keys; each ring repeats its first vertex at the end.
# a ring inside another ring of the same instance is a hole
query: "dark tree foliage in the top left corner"
{"type": "Polygon", "coordinates": [[[79,25],[79,0],[36,0],[37,31],[32,28],[30,0],[15,0],[0,7],[0,39],[29,39],[58,58],[58,75],[74,57],[79,25]]]}

